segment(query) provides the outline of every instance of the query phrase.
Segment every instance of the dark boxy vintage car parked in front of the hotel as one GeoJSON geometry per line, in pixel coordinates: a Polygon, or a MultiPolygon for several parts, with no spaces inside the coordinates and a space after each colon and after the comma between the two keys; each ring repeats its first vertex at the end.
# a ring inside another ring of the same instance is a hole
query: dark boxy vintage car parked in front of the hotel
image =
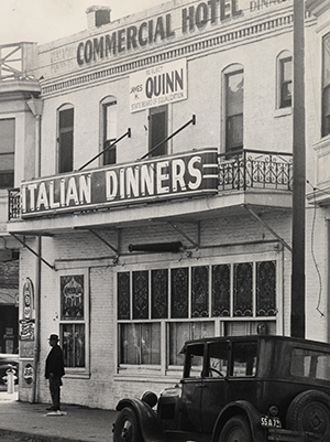
{"type": "Polygon", "coordinates": [[[183,378],[117,406],[113,441],[330,441],[330,344],[250,335],[189,341],[183,378]]]}

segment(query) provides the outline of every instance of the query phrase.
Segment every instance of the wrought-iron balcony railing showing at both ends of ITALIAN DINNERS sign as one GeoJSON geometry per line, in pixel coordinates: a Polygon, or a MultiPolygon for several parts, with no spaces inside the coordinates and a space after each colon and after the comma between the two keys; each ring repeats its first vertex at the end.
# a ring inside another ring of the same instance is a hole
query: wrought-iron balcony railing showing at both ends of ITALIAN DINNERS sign
{"type": "MultiPolygon", "coordinates": [[[[258,150],[219,154],[219,192],[265,188],[292,191],[293,155],[258,150]]],[[[9,191],[9,219],[21,217],[20,188],[9,191]]]]}

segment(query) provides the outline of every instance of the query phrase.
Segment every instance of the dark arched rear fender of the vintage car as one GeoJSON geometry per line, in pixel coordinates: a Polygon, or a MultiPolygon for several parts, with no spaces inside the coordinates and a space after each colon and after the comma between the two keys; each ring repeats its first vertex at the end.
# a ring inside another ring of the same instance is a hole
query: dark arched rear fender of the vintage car
{"type": "Polygon", "coordinates": [[[218,441],[224,423],[234,416],[244,416],[249,421],[253,441],[266,441],[266,430],[261,427],[261,413],[250,402],[245,400],[237,400],[228,403],[218,416],[215,424],[212,441],[218,441]]]}

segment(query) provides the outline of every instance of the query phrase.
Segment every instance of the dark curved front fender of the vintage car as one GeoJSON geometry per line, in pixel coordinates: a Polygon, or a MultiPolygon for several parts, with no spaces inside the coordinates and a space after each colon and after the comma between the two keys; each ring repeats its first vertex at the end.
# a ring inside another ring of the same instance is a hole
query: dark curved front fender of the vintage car
{"type": "Polygon", "coordinates": [[[125,407],[135,412],[144,442],[165,442],[162,421],[146,402],[141,399],[122,399],[118,402],[116,409],[121,411],[125,407]]]}

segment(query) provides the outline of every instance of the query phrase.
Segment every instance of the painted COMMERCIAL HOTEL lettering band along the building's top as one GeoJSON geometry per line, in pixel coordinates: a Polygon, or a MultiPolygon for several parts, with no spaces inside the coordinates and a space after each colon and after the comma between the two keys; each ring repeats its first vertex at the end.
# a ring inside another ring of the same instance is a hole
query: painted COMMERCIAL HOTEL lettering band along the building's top
{"type": "Polygon", "coordinates": [[[116,28],[102,35],[80,41],[76,46],[78,66],[85,67],[139,50],[150,50],[155,44],[185,39],[217,26],[228,25],[232,20],[270,12],[292,0],[207,0],[173,8],[168,13],[148,18],[125,28],[116,28]]]}

